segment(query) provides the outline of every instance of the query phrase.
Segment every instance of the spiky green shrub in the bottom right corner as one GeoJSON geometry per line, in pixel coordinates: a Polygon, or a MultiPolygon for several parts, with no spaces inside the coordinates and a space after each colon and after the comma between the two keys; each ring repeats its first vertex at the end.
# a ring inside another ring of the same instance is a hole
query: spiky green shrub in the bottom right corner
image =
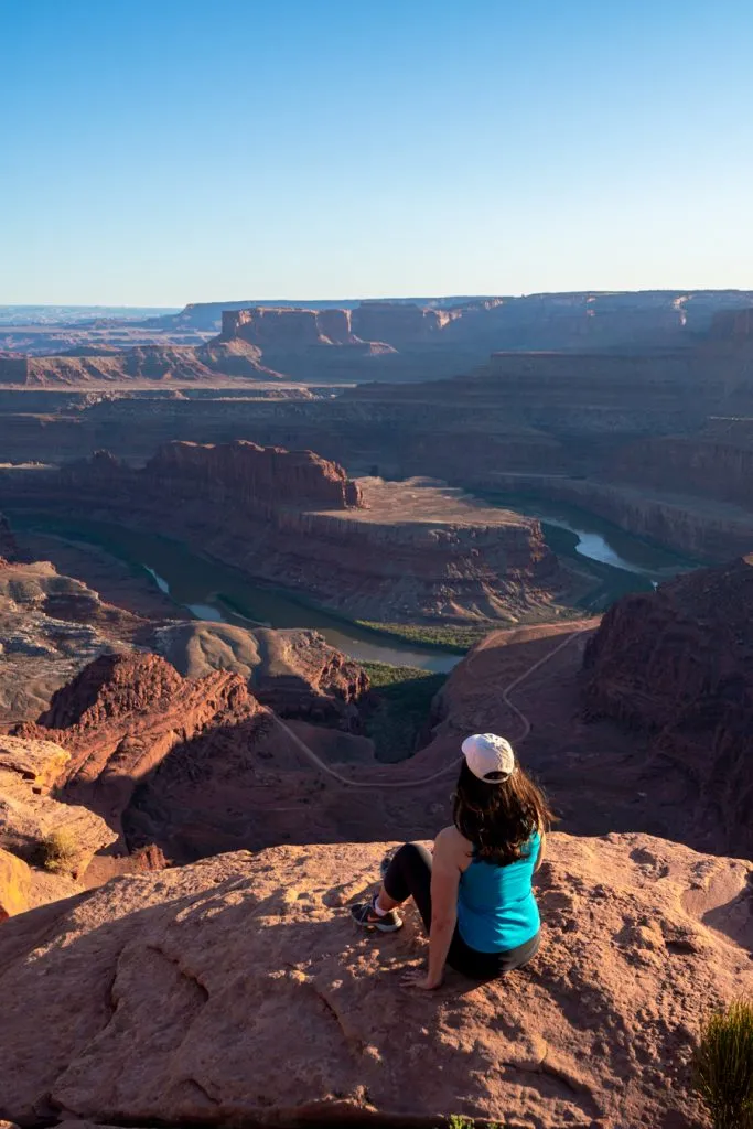
{"type": "Polygon", "coordinates": [[[713,1129],[753,1129],[753,1004],[737,1000],[703,1024],[693,1080],[713,1129]]]}

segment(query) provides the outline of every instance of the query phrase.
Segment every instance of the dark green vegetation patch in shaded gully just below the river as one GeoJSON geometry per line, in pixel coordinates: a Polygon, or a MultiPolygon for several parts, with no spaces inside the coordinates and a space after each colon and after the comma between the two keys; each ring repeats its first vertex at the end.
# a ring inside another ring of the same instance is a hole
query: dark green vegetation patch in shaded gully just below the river
{"type": "Polygon", "coordinates": [[[374,704],[367,710],[364,730],[374,742],[377,759],[404,761],[415,751],[426,728],[431,700],[446,675],[414,666],[362,663],[371,680],[374,704]]]}

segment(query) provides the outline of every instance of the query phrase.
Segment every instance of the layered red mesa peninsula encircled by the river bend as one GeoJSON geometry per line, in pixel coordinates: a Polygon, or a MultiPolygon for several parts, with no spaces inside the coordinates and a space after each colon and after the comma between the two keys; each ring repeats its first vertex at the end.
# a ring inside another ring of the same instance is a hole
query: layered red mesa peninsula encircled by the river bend
{"type": "Polygon", "coordinates": [[[541,618],[567,595],[534,518],[427,480],[353,482],[310,452],[176,443],[140,470],[99,454],[0,484],[59,515],[168,533],[352,619],[541,618]]]}

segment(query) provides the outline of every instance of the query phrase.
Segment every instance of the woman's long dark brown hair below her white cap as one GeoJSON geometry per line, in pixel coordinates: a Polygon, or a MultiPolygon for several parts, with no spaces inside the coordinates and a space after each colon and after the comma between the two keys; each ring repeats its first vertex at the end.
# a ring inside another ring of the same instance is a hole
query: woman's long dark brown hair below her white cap
{"type": "Polygon", "coordinates": [[[474,858],[497,866],[516,863],[532,834],[548,831],[553,820],[543,791],[519,764],[501,784],[487,784],[463,761],[453,823],[473,843],[474,858]]]}

